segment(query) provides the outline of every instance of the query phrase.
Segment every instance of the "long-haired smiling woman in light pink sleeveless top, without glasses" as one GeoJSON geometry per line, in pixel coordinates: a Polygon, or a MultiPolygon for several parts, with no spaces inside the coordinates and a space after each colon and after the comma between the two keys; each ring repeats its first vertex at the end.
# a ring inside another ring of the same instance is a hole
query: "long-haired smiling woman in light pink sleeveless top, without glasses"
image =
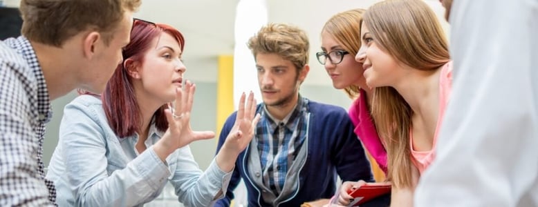
{"type": "MultiPolygon", "coordinates": [[[[452,77],[447,40],[422,0],[387,0],[363,15],[357,61],[375,88],[372,117],[387,149],[391,206],[413,206],[420,173],[435,158],[436,131],[452,77]]],[[[349,204],[345,183],[339,204],[349,204]]]]}

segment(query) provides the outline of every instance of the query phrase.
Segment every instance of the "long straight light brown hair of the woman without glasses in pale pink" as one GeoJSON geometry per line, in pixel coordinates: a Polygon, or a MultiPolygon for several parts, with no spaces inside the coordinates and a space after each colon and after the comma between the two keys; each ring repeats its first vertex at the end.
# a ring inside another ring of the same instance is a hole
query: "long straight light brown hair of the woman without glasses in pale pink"
{"type": "MultiPolygon", "coordinates": [[[[443,28],[422,0],[387,0],[364,13],[375,43],[389,55],[412,68],[436,70],[449,61],[443,28]]],[[[375,88],[372,116],[380,137],[387,144],[388,175],[398,187],[411,186],[409,130],[413,111],[391,87],[375,88]]]]}

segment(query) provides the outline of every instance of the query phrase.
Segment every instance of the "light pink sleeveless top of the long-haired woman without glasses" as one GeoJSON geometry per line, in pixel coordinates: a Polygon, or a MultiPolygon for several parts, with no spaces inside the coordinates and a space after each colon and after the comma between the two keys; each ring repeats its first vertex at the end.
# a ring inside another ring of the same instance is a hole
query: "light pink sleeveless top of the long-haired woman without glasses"
{"type": "Polygon", "coordinates": [[[437,125],[434,134],[434,141],[432,150],[429,151],[415,151],[413,149],[413,133],[412,130],[409,131],[409,138],[411,139],[411,161],[418,168],[418,171],[422,175],[424,170],[428,168],[429,164],[432,164],[432,161],[435,159],[435,150],[437,143],[437,136],[441,122],[443,121],[443,115],[445,115],[445,108],[448,104],[450,91],[452,90],[452,61],[441,68],[439,78],[439,117],[437,119],[437,125]]]}

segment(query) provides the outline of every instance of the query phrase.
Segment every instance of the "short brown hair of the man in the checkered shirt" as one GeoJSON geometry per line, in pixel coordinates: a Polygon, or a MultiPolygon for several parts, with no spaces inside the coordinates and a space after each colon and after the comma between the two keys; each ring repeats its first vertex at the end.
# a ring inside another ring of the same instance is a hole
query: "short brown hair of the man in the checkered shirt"
{"type": "Polygon", "coordinates": [[[133,12],[141,0],[22,0],[21,33],[30,41],[62,46],[76,34],[93,29],[108,44],[124,12],[133,12]]]}

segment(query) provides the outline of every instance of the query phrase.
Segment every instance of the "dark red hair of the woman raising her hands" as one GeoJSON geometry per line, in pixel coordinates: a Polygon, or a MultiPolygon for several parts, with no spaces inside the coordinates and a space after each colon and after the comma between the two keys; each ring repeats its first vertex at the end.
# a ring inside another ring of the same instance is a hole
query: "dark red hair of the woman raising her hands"
{"type": "MultiPolygon", "coordinates": [[[[123,59],[143,62],[143,57],[151,47],[151,42],[160,37],[163,32],[176,38],[183,51],[185,39],[183,34],[175,28],[161,23],[135,20],[131,30],[131,41],[122,52],[123,59]]],[[[131,136],[140,130],[140,124],[142,124],[140,108],[134,93],[132,78],[123,62],[118,65],[111,79],[106,83],[101,100],[106,119],[118,137],[131,136]]],[[[161,106],[151,118],[151,123],[163,132],[168,128],[165,108],[166,106],[161,106]]]]}

